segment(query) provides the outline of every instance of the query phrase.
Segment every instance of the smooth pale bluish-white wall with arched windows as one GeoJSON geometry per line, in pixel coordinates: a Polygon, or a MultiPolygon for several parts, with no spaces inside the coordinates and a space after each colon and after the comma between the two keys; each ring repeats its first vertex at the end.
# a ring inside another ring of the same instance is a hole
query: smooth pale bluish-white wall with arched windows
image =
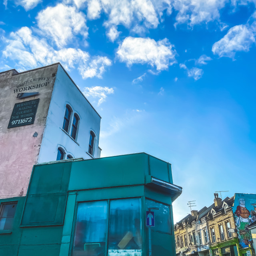
{"type": "MultiPolygon", "coordinates": [[[[91,159],[88,154],[90,130],[96,134],[93,157],[97,158],[100,116],[59,65],[38,162],[55,161],[59,146],[64,149],[66,155],[91,159]],[[62,130],[66,104],[73,110],[68,133],[62,130]],[[76,141],[70,136],[74,113],[80,118],[76,141]]],[[[66,159],[66,156],[64,158],[66,159]]]]}

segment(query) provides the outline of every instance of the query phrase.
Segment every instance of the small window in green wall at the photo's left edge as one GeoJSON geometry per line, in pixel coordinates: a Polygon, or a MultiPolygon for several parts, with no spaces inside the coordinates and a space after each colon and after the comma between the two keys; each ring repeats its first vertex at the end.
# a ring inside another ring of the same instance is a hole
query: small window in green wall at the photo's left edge
{"type": "Polygon", "coordinates": [[[17,202],[2,203],[0,205],[0,231],[12,229],[17,202]]]}

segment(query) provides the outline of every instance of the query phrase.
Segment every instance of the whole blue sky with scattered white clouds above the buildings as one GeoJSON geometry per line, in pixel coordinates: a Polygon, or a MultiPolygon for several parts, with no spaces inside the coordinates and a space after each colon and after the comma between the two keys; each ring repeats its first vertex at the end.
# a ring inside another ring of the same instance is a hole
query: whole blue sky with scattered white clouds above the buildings
{"type": "Polygon", "coordinates": [[[4,0],[0,72],[61,62],[102,116],[102,156],[146,152],[183,187],[255,193],[256,0],[4,0]]]}

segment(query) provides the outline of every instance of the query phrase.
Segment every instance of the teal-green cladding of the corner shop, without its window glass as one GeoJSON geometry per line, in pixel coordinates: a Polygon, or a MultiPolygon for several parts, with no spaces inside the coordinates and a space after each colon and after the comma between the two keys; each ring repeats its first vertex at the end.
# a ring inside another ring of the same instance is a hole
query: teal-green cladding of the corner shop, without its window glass
{"type": "MultiPolygon", "coordinates": [[[[174,256],[172,200],[177,196],[150,186],[152,177],[173,184],[171,165],[145,153],[34,166],[26,196],[0,199],[18,202],[12,229],[0,230],[0,256],[69,256],[78,202],[131,197],[142,198],[143,214],[146,198],[170,206],[173,250],[168,255],[174,256]]],[[[143,215],[142,227],[144,222],[143,215]]],[[[144,228],[142,239],[146,256],[144,228]]]]}

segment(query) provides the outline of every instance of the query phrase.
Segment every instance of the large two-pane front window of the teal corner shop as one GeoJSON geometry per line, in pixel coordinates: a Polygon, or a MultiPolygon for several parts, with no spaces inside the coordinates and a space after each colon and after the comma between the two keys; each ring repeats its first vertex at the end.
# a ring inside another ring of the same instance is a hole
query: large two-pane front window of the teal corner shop
{"type": "Polygon", "coordinates": [[[109,202],[78,204],[72,256],[142,255],[140,198],[109,202]]]}

